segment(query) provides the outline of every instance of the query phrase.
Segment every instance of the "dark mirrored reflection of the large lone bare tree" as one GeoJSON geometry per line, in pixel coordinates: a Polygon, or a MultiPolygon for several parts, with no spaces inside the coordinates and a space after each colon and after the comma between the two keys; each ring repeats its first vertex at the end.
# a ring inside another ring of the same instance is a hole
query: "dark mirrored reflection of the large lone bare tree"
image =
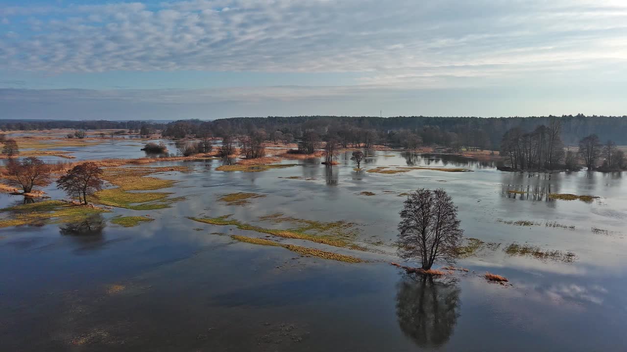
{"type": "Polygon", "coordinates": [[[405,276],[396,294],[401,331],[420,347],[442,346],[460,315],[460,292],[454,278],[405,276]]]}

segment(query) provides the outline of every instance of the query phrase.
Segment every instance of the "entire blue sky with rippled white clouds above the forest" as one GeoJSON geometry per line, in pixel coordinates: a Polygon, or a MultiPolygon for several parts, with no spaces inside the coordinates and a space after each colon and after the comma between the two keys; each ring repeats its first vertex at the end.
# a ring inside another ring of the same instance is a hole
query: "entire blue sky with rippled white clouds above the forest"
{"type": "Polygon", "coordinates": [[[627,115],[626,0],[0,0],[0,118],[627,115]]]}

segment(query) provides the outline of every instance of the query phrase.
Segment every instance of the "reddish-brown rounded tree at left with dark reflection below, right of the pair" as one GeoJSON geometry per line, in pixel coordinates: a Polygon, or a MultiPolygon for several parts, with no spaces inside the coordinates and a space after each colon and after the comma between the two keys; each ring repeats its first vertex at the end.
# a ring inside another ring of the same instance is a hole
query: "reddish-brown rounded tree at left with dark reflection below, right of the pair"
{"type": "Polygon", "coordinates": [[[70,197],[78,197],[87,204],[87,195],[102,189],[102,168],[93,162],[76,165],[56,180],[56,185],[70,197]]]}

